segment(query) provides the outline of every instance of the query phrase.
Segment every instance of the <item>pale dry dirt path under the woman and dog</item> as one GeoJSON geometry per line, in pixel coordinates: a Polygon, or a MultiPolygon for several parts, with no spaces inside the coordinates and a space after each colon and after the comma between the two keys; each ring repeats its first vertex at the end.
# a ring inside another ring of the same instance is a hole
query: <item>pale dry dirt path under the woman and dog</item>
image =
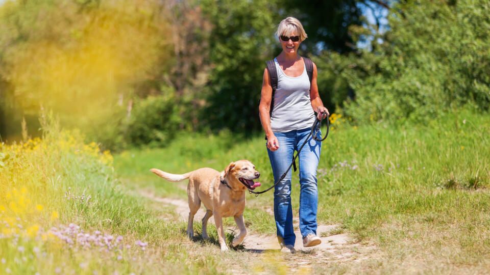
{"type": "MultiPolygon", "coordinates": [[[[169,206],[174,206],[176,212],[180,215],[183,221],[187,221],[189,215],[189,206],[186,200],[182,199],[170,199],[156,197],[149,191],[140,191],[143,197],[151,199],[155,202],[163,203],[169,206]]],[[[267,212],[273,215],[272,209],[267,212]]],[[[204,217],[205,210],[202,207],[194,216],[194,221],[201,221],[204,217]]],[[[298,217],[293,219],[295,227],[298,225],[298,217]]],[[[214,219],[210,218],[210,223],[214,224],[214,219]]],[[[302,236],[299,229],[295,230],[296,233],[296,245],[295,249],[299,253],[308,255],[305,257],[304,264],[309,264],[311,261],[325,259],[329,261],[360,261],[369,258],[367,255],[375,249],[373,246],[361,245],[356,242],[347,233],[330,235],[329,232],[338,228],[338,225],[318,225],[317,236],[320,236],[322,243],[314,246],[313,248],[304,248],[302,242],[302,236]]],[[[230,230],[237,230],[237,227],[230,227],[230,230]]],[[[243,243],[244,247],[249,252],[262,253],[265,251],[278,251],[280,250],[277,237],[275,235],[260,235],[248,230],[248,234],[245,237],[243,243]]],[[[300,263],[301,264],[301,263],[300,263]]]]}

